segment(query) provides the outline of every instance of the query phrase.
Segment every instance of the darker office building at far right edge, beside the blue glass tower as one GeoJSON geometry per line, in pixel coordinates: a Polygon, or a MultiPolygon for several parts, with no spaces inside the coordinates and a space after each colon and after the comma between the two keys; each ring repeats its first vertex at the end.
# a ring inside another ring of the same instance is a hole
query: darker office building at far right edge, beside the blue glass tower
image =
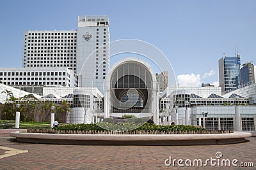
{"type": "Polygon", "coordinates": [[[255,82],[254,65],[252,64],[252,62],[246,62],[245,64],[243,64],[243,67],[240,69],[240,72],[241,85],[255,82]]]}

